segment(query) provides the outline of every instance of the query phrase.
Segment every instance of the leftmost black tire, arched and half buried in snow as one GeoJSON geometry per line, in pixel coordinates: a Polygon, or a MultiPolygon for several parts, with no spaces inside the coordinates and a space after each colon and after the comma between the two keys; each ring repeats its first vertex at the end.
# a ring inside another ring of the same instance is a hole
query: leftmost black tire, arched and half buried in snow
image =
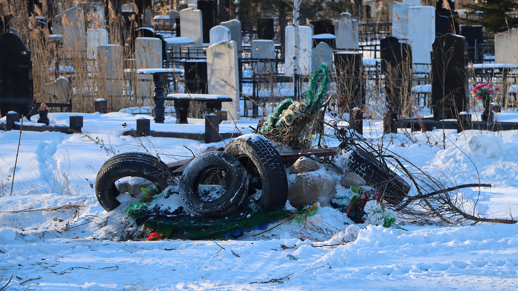
{"type": "Polygon", "coordinates": [[[159,191],[171,182],[172,172],[159,158],[147,153],[122,153],[106,161],[100,167],[95,180],[95,195],[106,211],[116,209],[121,203],[115,182],[124,177],[140,177],[149,180],[159,191]]]}

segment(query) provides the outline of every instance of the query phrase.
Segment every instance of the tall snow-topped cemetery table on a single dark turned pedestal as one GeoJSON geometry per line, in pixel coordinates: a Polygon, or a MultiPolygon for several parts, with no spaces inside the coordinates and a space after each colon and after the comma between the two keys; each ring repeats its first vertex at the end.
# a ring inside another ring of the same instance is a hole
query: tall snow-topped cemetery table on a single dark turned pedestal
{"type": "Polygon", "coordinates": [[[164,76],[167,75],[181,75],[182,70],[180,69],[171,69],[171,68],[153,68],[153,69],[138,69],[136,74],[139,75],[153,75],[153,82],[155,83],[155,87],[153,88],[154,95],[153,101],[155,106],[153,108],[155,113],[155,123],[164,123],[164,76]]]}

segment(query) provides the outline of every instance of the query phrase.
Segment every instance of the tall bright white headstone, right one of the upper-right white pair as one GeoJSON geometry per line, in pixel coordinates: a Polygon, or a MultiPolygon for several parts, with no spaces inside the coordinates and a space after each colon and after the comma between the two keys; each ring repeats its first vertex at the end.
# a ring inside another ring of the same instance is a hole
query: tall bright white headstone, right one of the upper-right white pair
{"type": "Polygon", "coordinates": [[[434,40],[435,7],[410,7],[408,9],[408,41],[412,47],[413,70],[415,72],[430,72],[430,52],[434,40]]]}

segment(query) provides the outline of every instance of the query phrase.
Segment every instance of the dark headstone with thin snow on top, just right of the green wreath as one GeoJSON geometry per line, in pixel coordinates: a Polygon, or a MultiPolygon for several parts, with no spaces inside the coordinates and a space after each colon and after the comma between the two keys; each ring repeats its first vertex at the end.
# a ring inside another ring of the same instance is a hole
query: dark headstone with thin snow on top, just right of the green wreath
{"type": "Polygon", "coordinates": [[[365,105],[365,80],[362,74],[362,53],[336,52],[335,70],[340,105],[345,106],[346,111],[355,107],[363,109],[365,105]]]}

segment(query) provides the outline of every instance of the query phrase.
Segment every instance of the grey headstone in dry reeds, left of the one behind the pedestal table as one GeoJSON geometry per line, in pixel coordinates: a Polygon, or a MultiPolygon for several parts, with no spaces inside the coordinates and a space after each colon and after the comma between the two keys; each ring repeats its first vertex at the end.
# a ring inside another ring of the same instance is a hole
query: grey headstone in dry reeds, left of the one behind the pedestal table
{"type": "Polygon", "coordinates": [[[123,48],[120,45],[100,45],[97,49],[97,67],[99,75],[103,76],[103,83],[98,86],[99,95],[116,96],[123,95],[124,57],[123,48]]]}

